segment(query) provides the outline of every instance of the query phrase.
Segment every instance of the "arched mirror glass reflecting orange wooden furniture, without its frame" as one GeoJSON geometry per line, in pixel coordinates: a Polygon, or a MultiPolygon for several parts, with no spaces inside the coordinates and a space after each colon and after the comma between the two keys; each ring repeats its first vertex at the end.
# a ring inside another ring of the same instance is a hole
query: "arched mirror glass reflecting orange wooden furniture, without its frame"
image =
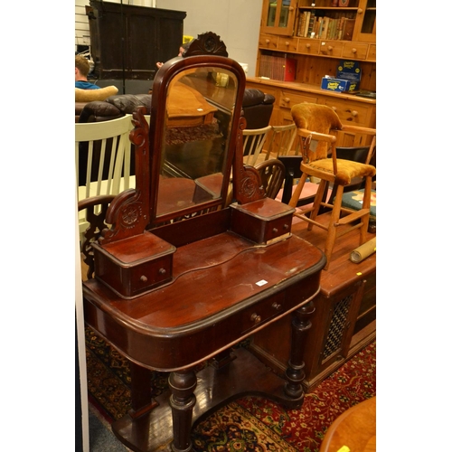
{"type": "Polygon", "coordinates": [[[231,71],[215,67],[184,70],[171,80],[157,217],[221,199],[237,86],[231,71]]]}

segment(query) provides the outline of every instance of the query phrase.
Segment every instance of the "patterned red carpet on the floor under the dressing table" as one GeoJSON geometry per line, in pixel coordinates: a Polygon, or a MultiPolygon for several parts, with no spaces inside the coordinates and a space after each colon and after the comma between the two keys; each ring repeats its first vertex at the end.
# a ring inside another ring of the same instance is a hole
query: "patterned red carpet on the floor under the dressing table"
{"type": "MultiPolygon", "coordinates": [[[[86,328],[90,402],[108,421],[130,403],[128,363],[86,328]]],[[[155,396],[165,391],[167,374],[155,372],[155,396]]],[[[300,410],[285,410],[259,397],[230,402],[193,428],[196,452],[315,452],[326,429],[344,410],[376,395],[376,344],[357,353],[309,394],[300,410]]]]}

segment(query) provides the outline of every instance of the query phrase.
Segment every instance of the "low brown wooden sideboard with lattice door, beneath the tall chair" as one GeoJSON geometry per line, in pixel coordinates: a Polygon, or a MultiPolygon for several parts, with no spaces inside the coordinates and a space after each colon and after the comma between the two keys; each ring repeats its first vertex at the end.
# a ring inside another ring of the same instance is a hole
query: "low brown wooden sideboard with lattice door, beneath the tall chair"
{"type": "MultiPolygon", "coordinates": [[[[324,214],[319,218],[328,217],[324,214]]],[[[295,222],[292,232],[320,249],[324,246],[325,231],[307,231],[306,221],[295,222]]],[[[374,237],[375,234],[368,234],[369,240],[374,237]]],[[[358,245],[357,231],[338,239],[332,262],[322,272],[312,326],[302,353],[306,391],[312,391],[376,337],[376,254],[354,264],[349,256],[358,245]]],[[[290,319],[284,318],[265,332],[254,334],[250,349],[273,371],[282,374],[287,367],[290,342],[290,319]]]]}

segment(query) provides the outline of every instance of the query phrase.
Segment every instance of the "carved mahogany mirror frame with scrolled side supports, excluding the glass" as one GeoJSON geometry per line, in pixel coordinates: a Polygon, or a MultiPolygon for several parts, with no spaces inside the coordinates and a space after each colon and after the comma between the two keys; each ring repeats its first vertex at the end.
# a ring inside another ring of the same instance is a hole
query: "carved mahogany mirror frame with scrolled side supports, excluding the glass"
{"type": "Polygon", "coordinates": [[[157,72],[153,84],[150,124],[146,122],[146,108],[137,108],[133,114],[135,129],[130,133],[130,140],[136,146],[136,188],[128,189],[110,203],[106,222],[111,225],[102,231],[99,244],[127,239],[144,231],[152,231],[161,221],[179,220],[186,212],[193,216],[227,207],[228,189],[232,172],[232,202],[246,204],[265,197],[260,184],[259,172],[252,166],[243,165],[242,131],[246,120],[242,116],[241,105],[246,85],[246,76],[239,62],[231,60],[226,47],[215,33],[203,33],[191,42],[182,57],[166,61],[157,72]],[[158,174],[162,152],[162,134],[158,133],[160,121],[165,121],[166,96],[168,87],[174,77],[182,71],[197,68],[217,67],[230,71],[237,78],[237,96],[231,118],[231,132],[223,182],[221,185],[221,202],[202,202],[193,209],[177,211],[164,217],[156,217],[158,195],[158,174]],[[164,99],[164,100],[162,100],[164,99]]]}

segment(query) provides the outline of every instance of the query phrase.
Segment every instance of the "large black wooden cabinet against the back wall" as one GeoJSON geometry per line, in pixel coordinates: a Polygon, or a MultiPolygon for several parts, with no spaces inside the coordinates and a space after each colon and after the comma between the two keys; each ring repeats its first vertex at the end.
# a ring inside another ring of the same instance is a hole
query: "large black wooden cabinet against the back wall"
{"type": "Polygon", "coordinates": [[[99,79],[154,80],[155,63],[179,53],[183,11],[90,0],[86,12],[99,79]]]}

